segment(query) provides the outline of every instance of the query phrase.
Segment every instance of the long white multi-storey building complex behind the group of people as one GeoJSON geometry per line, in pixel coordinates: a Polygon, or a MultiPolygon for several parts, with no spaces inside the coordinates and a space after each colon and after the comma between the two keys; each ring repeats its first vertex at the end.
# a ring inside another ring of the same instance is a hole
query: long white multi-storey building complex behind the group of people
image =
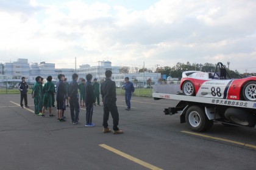
{"type": "Polygon", "coordinates": [[[57,76],[60,73],[64,74],[68,81],[72,80],[73,73],[77,73],[79,78],[85,78],[88,73],[91,73],[93,78],[104,81],[106,70],[112,70],[112,80],[116,82],[117,87],[123,85],[125,77],[129,77],[132,82],[136,79],[138,84],[142,85],[146,84],[149,78],[157,84],[158,78],[161,77],[160,73],[119,73],[119,67],[112,66],[110,61],[101,61],[98,66],[82,64],[76,72],[74,69],[55,69],[55,64],[45,62],[32,63],[29,66],[27,59],[19,58],[13,63],[0,64],[0,82],[18,83],[21,81],[21,77],[26,77],[27,83],[34,84],[37,76],[46,79],[51,75],[54,80],[58,80],[57,76]]]}

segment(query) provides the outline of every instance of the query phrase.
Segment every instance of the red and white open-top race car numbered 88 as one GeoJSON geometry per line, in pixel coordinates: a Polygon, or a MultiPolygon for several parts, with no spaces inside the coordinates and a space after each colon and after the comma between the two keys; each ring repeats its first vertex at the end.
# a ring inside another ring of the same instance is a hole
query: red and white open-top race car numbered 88
{"type": "Polygon", "coordinates": [[[256,77],[232,79],[226,67],[218,63],[214,73],[183,72],[180,90],[189,96],[256,101],[256,77]]]}

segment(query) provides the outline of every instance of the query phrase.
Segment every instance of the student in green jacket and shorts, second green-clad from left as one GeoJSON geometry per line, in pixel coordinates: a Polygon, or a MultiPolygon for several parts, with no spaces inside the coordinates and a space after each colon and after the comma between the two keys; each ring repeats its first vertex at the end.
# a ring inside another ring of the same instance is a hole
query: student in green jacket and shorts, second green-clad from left
{"type": "Polygon", "coordinates": [[[52,77],[49,75],[47,78],[47,83],[43,86],[43,114],[41,117],[45,117],[45,109],[49,108],[49,117],[55,117],[52,114],[52,94],[55,92],[54,84],[52,83],[52,77]]]}

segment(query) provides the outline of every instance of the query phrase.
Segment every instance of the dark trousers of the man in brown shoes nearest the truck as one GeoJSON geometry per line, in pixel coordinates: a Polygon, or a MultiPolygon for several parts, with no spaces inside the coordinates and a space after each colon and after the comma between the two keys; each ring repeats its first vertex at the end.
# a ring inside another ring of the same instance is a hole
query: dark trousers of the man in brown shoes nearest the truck
{"type": "Polygon", "coordinates": [[[109,112],[112,115],[113,118],[113,130],[118,131],[118,121],[119,121],[119,114],[118,114],[118,109],[116,106],[116,103],[109,103],[109,104],[103,104],[103,127],[107,128],[108,127],[108,117],[109,117],[109,112]]]}

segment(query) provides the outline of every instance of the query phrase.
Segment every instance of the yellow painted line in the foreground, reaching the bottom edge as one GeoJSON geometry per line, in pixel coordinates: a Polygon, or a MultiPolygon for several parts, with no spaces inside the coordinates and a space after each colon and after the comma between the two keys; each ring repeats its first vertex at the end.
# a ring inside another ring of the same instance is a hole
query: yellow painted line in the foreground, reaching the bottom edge
{"type": "Polygon", "coordinates": [[[115,154],[118,154],[118,155],[120,155],[121,157],[124,157],[124,158],[127,158],[127,159],[131,160],[131,161],[134,161],[135,163],[138,163],[138,164],[140,164],[140,165],[142,165],[142,166],[144,166],[144,167],[146,167],[146,168],[154,169],[154,170],[160,169],[160,168],[157,168],[157,167],[154,166],[154,165],[151,165],[151,164],[149,164],[149,163],[146,163],[145,161],[139,160],[139,159],[137,159],[137,158],[135,158],[135,157],[132,157],[132,156],[130,156],[130,155],[124,153],[124,152],[118,151],[118,150],[115,149],[115,148],[112,148],[112,147],[110,147],[110,146],[107,146],[107,144],[99,144],[99,146],[101,146],[102,148],[107,149],[108,151],[114,152],[115,154]]]}

